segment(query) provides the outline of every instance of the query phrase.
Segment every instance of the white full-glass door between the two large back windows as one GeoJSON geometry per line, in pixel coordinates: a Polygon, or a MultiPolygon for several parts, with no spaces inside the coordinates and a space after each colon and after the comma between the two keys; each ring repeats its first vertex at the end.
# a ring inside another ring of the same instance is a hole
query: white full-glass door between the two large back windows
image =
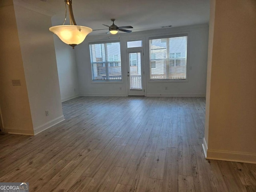
{"type": "Polygon", "coordinates": [[[129,96],[144,96],[144,65],[142,50],[127,51],[127,80],[129,96]]]}

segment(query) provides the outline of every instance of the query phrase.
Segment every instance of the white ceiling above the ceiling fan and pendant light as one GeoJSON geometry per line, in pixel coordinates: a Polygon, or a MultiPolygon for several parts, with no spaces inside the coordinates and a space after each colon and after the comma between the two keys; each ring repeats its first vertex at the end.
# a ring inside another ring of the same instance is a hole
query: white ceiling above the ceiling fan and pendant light
{"type": "MultiPolygon", "coordinates": [[[[54,23],[61,25],[65,17],[64,0],[22,0],[54,13],[54,23]]],[[[135,31],[204,24],[209,22],[210,0],[72,0],[77,25],[93,30],[105,29],[115,18],[117,26],[131,25],[135,31]]],[[[67,15],[66,24],[69,24],[67,15]]],[[[108,30],[93,31],[90,35],[108,30]]]]}

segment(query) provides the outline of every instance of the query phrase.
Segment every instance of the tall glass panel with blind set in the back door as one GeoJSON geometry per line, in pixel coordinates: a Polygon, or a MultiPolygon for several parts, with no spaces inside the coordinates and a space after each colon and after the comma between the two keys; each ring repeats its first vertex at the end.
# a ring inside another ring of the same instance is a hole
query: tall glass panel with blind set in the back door
{"type": "Polygon", "coordinates": [[[140,52],[129,53],[130,60],[130,89],[141,90],[141,62],[140,52]]]}

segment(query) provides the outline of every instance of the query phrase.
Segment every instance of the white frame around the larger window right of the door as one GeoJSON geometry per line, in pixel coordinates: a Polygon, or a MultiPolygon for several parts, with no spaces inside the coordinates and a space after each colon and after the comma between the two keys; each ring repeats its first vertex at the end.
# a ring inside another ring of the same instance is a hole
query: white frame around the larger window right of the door
{"type": "Polygon", "coordinates": [[[147,69],[147,82],[148,83],[164,83],[164,82],[188,82],[189,81],[189,52],[190,52],[190,32],[175,33],[171,35],[163,36],[149,36],[147,41],[147,60],[148,60],[148,69],[147,69]],[[150,79],[150,40],[153,39],[162,39],[162,38],[175,38],[175,37],[184,37],[187,36],[187,65],[186,65],[186,79],[150,79]]]}

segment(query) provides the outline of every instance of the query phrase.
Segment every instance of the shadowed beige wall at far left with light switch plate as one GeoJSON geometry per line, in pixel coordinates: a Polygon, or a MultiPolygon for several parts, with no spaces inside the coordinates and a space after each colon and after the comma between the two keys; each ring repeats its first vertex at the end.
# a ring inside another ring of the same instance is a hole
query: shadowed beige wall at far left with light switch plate
{"type": "Polygon", "coordinates": [[[3,131],[33,135],[32,117],[12,0],[1,0],[0,2],[0,26],[0,106],[3,131]],[[21,86],[12,86],[12,80],[20,80],[21,86]]]}

